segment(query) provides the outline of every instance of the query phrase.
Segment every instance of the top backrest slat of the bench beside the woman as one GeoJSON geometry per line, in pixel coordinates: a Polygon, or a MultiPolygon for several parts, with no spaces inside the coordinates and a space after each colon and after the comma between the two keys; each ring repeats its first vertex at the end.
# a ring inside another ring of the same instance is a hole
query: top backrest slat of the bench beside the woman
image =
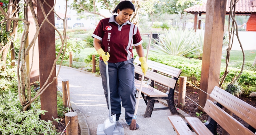
{"type": "MultiPolygon", "coordinates": [[[[134,63],[140,64],[139,57],[136,57],[134,63]]],[[[170,76],[178,78],[181,73],[181,69],[171,67],[165,64],[157,63],[151,60],[147,60],[148,67],[156,71],[168,74],[170,76]]]]}

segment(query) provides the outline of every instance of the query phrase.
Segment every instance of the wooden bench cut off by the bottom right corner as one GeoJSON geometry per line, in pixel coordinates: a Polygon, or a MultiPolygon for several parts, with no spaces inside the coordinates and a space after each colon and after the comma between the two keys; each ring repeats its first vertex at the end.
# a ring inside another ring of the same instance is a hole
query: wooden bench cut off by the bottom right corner
{"type": "Polygon", "coordinates": [[[215,101],[206,101],[204,112],[209,115],[209,119],[204,124],[197,117],[186,117],[188,124],[179,116],[168,117],[178,135],[192,135],[192,131],[195,131],[197,135],[217,135],[217,123],[230,135],[255,135],[256,108],[217,86],[212,90],[210,97],[215,101]],[[243,119],[246,124],[238,122],[222,107],[243,119]]]}

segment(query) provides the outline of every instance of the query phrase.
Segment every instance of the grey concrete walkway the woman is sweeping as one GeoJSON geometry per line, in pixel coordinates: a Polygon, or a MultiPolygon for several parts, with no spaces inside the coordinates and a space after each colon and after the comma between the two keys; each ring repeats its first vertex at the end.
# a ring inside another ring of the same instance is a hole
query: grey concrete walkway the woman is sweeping
{"type": "MultiPolygon", "coordinates": [[[[57,66],[57,69],[59,69],[59,66],[57,66]]],[[[108,118],[108,108],[101,77],[83,70],[61,66],[58,77],[59,88],[62,88],[62,79],[69,80],[71,107],[78,113],[81,135],[96,135],[98,124],[103,124],[108,118]]],[[[156,103],[155,107],[166,106],[162,103],[156,103]]],[[[122,108],[119,121],[124,127],[125,135],[176,135],[167,118],[172,116],[169,110],[153,111],[150,118],[144,118],[145,110],[146,104],[140,98],[136,121],[140,128],[131,131],[125,122],[124,108],[122,108]]]]}

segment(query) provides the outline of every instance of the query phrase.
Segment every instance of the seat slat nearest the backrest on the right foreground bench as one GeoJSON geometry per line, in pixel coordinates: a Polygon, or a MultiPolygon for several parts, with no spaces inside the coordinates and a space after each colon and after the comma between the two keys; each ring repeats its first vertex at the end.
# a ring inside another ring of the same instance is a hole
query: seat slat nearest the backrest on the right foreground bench
{"type": "Polygon", "coordinates": [[[213,135],[210,130],[196,117],[186,117],[185,120],[197,135],[213,135]]]}

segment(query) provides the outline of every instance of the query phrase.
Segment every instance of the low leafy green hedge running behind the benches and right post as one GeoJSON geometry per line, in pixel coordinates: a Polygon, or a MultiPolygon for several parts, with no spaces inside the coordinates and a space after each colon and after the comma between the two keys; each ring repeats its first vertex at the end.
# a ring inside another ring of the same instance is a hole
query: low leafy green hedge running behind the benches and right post
{"type": "MultiPolygon", "coordinates": [[[[180,56],[168,56],[168,55],[149,55],[148,56],[149,60],[156,61],[158,63],[170,65],[172,67],[176,67],[181,69],[181,76],[186,76],[188,77],[188,81],[191,81],[194,84],[200,84],[200,79],[201,79],[201,68],[202,68],[202,60],[198,59],[188,59],[185,57],[180,57],[180,56]]],[[[229,73],[226,78],[226,82],[231,82],[233,77],[236,74],[236,71],[241,71],[239,68],[233,68],[233,67],[228,67],[229,73]]],[[[220,68],[220,76],[225,71],[225,67],[220,68]]],[[[237,73],[237,74],[238,74],[237,73]]],[[[256,89],[256,71],[249,71],[249,70],[244,70],[243,73],[241,74],[240,78],[237,80],[238,84],[242,86],[242,89],[244,91],[255,91],[256,89]]],[[[245,92],[245,93],[246,93],[245,92]]]]}

